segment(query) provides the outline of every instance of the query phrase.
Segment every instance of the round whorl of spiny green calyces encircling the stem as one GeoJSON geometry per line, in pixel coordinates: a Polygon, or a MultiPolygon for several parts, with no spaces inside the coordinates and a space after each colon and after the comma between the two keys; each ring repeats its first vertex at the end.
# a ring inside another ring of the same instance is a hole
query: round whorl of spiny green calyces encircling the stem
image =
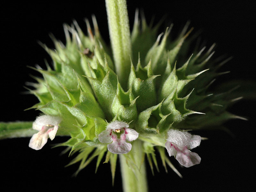
{"type": "MultiPolygon", "coordinates": [[[[143,141],[141,150],[147,155],[152,172],[153,163],[158,170],[156,148],[163,165],[167,163],[179,174],[164,149],[168,130],[219,128],[224,121],[239,118],[226,111],[236,100],[228,96],[232,90],[218,94],[207,90],[223,74],[217,69],[229,59],[211,60],[214,45],[207,51],[196,46],[190,53],[196,35],[189,36],[192,29],[188,31],[188,24],[171,41],[168,36],[172,25],[157,36],[160,24],[148,26],[142,19],[140,26],[137,12],[131,35],[129,77],[120,81],[125,77],[116,75],[111,49],[100,36],[94,16],[92,21],[94,34],[88,20],[88,36],[74,21],[71,27],[64,25],[66,45],[53,36],[55,50],[42,44],[52,57],[53,69],[48,64],[47,70],[35,68],[43,79],[35,77],[38,84],[30,90],[39,99],[32,108],[61,117],[57,135],[71,138],[58,146],[68,146],[70,155],[78,152],[70,162],[81,161],[76,173],[98,156],[97,170],[107,152],[105,162],[110,161],[114,177],[117,154],[109,152],[107,144],[98,139],[107,122],[131,122],[130,127],[139,133],[138,140],[143,141]]],[[[132,165],[132,154],[125,157],[132,165]]]]}

